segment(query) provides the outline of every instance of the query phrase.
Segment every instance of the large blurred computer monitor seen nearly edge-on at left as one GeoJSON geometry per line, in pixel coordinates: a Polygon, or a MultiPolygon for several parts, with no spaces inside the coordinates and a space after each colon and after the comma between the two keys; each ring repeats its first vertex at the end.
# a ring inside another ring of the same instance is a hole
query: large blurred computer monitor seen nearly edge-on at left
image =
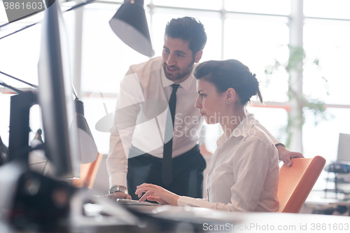
{"type": "Polygon", "coordinates": [[[80,177],[68,41],[59,1],[45,10],[41,30],[38,104],[43,117],[45,153],[57,176],[80,177]]]}

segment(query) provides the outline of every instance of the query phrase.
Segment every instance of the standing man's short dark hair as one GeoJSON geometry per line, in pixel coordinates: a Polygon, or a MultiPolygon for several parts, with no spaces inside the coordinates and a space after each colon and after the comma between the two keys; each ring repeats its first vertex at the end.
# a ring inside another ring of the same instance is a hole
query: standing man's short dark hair
{"type": "Polygon", "coordinates": [[[170,20],[167,27],[165,27],[165,35],[172,38],[181,38],[183,41],[190,41],[189,47],[192,50],[193,57],[207,43],[204,25],[194,17],[179,17],[170,20]]]}

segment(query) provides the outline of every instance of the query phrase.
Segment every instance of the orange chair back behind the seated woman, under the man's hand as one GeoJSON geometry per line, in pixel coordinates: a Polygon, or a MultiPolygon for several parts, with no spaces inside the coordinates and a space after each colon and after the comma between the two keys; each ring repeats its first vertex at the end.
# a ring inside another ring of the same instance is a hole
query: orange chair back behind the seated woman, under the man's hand
{"type": "Polygon", "coordinates": [[[292,167],[283,164],[279,170],[279,211],[284,213],[299,213],[307,196],[320,176],[325,159],[295,158],[292,167]]]}

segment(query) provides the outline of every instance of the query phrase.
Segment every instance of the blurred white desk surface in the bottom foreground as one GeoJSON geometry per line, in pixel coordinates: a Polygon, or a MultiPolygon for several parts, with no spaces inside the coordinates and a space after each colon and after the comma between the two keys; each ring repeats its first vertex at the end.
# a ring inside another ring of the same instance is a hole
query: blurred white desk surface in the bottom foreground
{"type": "MultiPolygon", "coordinates": [[[[230,213],[203,208],[182,206],[137,206],[144,213],[162,219],[181,220],[175,230],[155,232],[193,232],[191,225],[197,224],[197,230],[203,232],[349,232],[350,218],[346,216],[325,216],[298,213],[230,213]],[[181,228],[182,227],[182,228],[181,228]],[[198,228],[199,227],[199,228],[198,228]]],[[[13,233],[5,225],[0,230],[4,233],[13,233]]],[[[75,231],[77,232],[77,231],[75,231]]],[[[80,232],[80,231],[78,231],[80,232]]],[[[150,232],[146,228],[130,229],[116,225],[106,229],[85,229],[83,232],[150,232]],[[134,231],[135,230],[135,231],[134,231]]]]}

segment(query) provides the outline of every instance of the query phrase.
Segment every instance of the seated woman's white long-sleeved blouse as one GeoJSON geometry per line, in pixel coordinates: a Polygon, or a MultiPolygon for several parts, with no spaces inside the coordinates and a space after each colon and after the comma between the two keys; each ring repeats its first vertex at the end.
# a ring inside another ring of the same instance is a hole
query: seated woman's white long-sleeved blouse
{"type": "Polygon", "coordinates": [[[249,114],[211,157],[206,178],[208,199],[180,197],[179,206],[224,211],[277,211],[279,155],[274,143],[249,114]]]}

